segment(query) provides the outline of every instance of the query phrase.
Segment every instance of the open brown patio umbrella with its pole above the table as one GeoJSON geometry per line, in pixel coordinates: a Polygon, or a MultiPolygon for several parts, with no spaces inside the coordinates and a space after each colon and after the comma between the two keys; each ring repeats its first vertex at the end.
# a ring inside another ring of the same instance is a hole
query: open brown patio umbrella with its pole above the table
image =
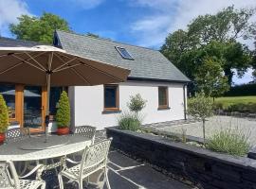
{"type": "Polygon", "coordinates": [[[130,70],[82,58],[47,45],[0,47],[0,82],[47,87],[87,86],[125,81],[130,70]]]}

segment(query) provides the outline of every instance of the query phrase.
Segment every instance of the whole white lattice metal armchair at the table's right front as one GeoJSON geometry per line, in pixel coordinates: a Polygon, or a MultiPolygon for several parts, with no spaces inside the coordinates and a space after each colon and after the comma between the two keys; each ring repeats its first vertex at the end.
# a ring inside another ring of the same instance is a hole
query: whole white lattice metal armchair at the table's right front
{"type": "MultiPolygon", "coordinates": [[[[111,189],[107,176],[107,155],[111,141],[112,139],[107,139],[95,145],[86,147],[82,155],[81,163],[70,168],[64,165],[64,169],[58,175],[60,188],[64,189],[63,176],[69,180],[78,182],[79,189],[82,189],[82,180],[88,180],[90,175],[99,170],[103,170],[104,181],[106,181],[107,188],[111,189]]],[[[74,163],[69,159],[66,159],[66,161],[74,163]]],[[[101,184],[101,188],[103,188],[103,184],[101,184]]]]}

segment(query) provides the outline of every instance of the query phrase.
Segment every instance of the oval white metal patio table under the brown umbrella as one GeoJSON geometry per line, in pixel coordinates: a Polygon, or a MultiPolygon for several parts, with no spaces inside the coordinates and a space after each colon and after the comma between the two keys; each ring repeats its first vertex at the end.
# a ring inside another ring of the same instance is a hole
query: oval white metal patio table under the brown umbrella
{"type": "MultiPolygon", "coordinates": [[[[0,161],[39,162],[40,160],[64,157],[68,154],[82,151],[91,145],[91,140],[81,135],[49,135],[47,142],[45,135],[31,136],[26,139],[9,142],[0,146],[0,161]]],[[[44,162],[44,161],[43,161],[44,162]]],[[[45,164],[44,170],[55,168],[62,163],[45,164]]]]}

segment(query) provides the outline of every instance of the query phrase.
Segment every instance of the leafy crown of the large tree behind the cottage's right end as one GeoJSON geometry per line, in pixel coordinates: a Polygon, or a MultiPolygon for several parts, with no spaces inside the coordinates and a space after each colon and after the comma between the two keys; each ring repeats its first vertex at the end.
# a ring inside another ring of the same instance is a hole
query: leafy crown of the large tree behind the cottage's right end
{"type": "Polygon", "coordinates": [[[207,57],[219,59],[230,86],[234,69],[242,77],[250,66],[251,53],[237,39],[252,38],[256,25],[250,18],[254,14],[255,9],[229,7],[214,15],[198,16],[187,30],[179,29],[169,34],[161,52],[192,80],[203,60],[207,57]]]}

